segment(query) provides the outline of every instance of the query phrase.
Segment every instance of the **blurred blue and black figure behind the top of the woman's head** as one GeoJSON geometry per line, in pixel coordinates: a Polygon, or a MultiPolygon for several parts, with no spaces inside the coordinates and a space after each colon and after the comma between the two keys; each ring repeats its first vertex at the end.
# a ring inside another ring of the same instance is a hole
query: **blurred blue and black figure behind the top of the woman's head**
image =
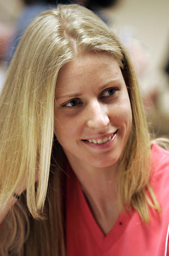
{"type": "Polygon", "coordinates": [[[22,2],[25,4],[25,8],[17,21],[15,34],[6,51],[6,59],[8,63],[10,63],[11,58],[14,55],[23,32],[34,17],[42,11],[51,9],[53,6],[58,4],[78,3],[94,11],[96,15],[100,16],[102,20],[107,22],[106,15],[101,12],[102,8],[113,7],[119,2],[119,0],[22,0],[22,2]]]}

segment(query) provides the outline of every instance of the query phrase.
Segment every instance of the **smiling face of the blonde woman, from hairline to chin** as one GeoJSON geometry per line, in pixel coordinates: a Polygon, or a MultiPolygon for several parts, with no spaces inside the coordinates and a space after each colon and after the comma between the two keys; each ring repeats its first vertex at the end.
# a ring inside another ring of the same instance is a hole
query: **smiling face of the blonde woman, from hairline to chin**
{"type": "Polygon", "coordinates": [[[70,163],[105,168],[117,163],[132,114],[119,64],[104,53],[74,58],[59,72],[55,134],[70,163]]]}

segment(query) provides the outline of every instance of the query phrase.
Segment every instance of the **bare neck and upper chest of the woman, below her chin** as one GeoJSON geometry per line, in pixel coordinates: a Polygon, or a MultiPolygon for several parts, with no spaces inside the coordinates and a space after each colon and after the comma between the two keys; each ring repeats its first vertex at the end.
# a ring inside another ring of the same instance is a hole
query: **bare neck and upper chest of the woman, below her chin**
{"type": "Polygon", "coordinates": [[[117,198],[118,165],[92,168],[84,163],[79,165],[75,161],[70,162],[70,165],[80,181],[83,193],[96,221],[102,231],[107,234],[119,215],[117,198]]]}

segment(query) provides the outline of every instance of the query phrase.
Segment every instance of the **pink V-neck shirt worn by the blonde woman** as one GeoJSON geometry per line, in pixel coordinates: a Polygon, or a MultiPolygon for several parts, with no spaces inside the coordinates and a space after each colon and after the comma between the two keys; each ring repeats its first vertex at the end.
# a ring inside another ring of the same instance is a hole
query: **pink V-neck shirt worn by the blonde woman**
{"type": "Polygon", "coordinates": [[[136,210],[121,213],[111,231],[104,235],[83,195],[74,172],[68,170],[67,256],[169,256],[169,152],[152,146],[150,183],[162,208],[150,209],[150,223],[141,221],[136,210]]]}

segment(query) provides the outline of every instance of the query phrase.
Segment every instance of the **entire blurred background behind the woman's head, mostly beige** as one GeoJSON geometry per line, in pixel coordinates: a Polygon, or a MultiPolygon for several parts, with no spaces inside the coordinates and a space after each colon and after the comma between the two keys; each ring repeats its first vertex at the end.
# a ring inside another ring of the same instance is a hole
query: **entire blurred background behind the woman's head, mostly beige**
{"type": "Polygon", "coordinates": [[[0,0],[0,91],[28,23],[49,4],[82,3],[122,40],[134,63],[144,108],[156,136],[169,136],[168,0],[0,0]]]}

